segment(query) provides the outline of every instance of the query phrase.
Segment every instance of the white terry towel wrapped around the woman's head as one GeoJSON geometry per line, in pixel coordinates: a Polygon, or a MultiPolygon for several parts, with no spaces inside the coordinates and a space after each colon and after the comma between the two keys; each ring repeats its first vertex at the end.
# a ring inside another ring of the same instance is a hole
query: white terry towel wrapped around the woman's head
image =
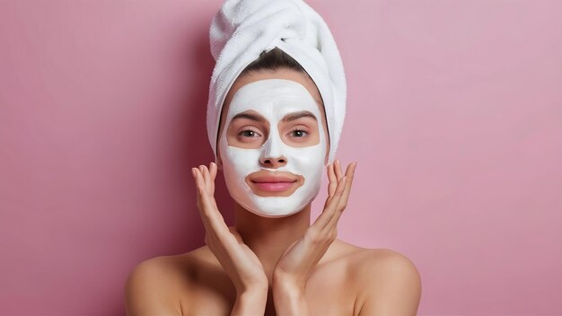
{"type": "Polygon", "coordinates": [[[216,64],[206,127],[215,160],[227,92],[262,51],[277,47],[303,66],[321,92],[333,162],[346,115],[347,83],[338,47],[321,15],[303,0],[226,0],[211,22],[209,38],[216,64]]]}

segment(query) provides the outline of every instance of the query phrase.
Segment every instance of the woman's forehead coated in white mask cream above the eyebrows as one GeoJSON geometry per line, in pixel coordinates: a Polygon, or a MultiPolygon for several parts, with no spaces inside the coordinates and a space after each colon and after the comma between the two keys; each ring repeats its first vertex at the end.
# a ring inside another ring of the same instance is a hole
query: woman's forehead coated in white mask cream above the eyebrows
{"type": "Polygon", "coordinates": [[[318,105],[308,90],[302,84],[286,79],[263,79],[242,86],[230,101],[226,120],[247,110],[272,118],[292,111],[309,110],[320,117],[318,105]]]}

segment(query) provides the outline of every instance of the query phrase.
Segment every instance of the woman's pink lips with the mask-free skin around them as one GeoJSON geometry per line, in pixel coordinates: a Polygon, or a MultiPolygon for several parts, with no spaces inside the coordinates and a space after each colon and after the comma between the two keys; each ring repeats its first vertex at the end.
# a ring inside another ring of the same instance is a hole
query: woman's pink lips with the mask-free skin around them
{"type": "Polygon", "coordinates": [[[290,173],[276,175],[277,172],[259,171],[246,179],[250,189],[259,196],[289,196],[303,185],[302,177],[290,173]]]}

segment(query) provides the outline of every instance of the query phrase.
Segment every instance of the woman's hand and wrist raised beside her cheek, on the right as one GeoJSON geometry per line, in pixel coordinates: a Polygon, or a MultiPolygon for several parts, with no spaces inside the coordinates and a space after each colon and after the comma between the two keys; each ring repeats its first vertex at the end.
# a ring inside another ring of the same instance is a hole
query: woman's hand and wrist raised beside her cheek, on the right
{"type": "Polygon", "coordinates": [[[347,165],[345,176],[342,174],[338,160],[330,163],[327,169],[329,196],[324,204],[324,210],[303,237],[285,250],[277,261],[277,266],[273,271],[274,296],[286,298],[287,295],[292,297],[302,295],[312,270],[338,236],[337,224],[339,216],[347,206],[347,198],[356,171],[356,162],[347,165]],[[292,293],[287,293],[287,291],[292,293]]]}

